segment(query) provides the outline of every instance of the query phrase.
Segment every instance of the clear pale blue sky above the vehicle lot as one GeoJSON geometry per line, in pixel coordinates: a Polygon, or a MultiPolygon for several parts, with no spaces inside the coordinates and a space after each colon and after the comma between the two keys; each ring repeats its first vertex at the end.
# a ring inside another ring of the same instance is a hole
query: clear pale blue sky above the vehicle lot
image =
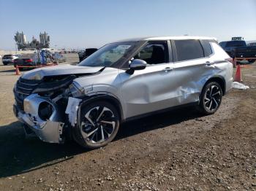
{"type": "Polygon", "coordinates": [[[256,40],[256,0],[0,0],[0,49],[50,35],[50,47],[86,48],[140,36],[256,40]]]}

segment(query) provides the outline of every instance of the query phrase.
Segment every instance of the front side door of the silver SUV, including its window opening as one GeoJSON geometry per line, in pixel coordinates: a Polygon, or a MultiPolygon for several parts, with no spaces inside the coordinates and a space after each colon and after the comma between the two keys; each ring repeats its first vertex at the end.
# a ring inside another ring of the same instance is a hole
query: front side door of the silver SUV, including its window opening
{"type": "Polygon", "coordinates": [[[146,69],[134,71],[133,74],[119,71],[126,118],[170,107],[170,92],[175,77],[168,44],[170,41],[148,42],[134,56],[148,63],[146,69]]]}

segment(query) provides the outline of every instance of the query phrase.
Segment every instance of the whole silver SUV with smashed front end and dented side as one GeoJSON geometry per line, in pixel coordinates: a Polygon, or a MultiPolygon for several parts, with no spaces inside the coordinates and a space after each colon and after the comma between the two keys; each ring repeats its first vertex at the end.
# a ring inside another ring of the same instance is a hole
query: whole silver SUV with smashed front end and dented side
{"type": "Polygon", "coordinates": [[[23,74],[14,113],[42,141],[75,139],[103,147],[121,122],[195,104],[213,114],[233,81],[230,57],[216,39],[165,36],[106,44],[78,66],[23,74]]]}

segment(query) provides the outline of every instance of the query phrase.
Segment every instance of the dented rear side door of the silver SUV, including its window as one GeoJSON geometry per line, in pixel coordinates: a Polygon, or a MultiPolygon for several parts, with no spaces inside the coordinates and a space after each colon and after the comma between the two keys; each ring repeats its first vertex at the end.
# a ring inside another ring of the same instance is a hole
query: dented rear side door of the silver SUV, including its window
{"type": "Polygon", "coordinates": [[[174,69],[176,72],[176,98],[172,105],[199,101],[206,80],[214,74],[211,46],[208,40],[172,40],[174,69]],[[203,49],[204,47],[204,49],[203,49]]]}

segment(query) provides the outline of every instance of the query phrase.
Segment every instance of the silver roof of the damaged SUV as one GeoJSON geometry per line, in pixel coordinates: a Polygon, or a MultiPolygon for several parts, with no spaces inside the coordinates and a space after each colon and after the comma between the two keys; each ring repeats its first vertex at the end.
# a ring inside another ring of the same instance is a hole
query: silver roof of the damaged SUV
{"type": "Polygon", "coordinates": [[[117,42],[129,42],[129,41],[157,41],[157,40],[176,40],[176,39],[213,39],[217,41],[217,38],[207,36],[145,36],[132,39],[123,39],[117,42]]]}

